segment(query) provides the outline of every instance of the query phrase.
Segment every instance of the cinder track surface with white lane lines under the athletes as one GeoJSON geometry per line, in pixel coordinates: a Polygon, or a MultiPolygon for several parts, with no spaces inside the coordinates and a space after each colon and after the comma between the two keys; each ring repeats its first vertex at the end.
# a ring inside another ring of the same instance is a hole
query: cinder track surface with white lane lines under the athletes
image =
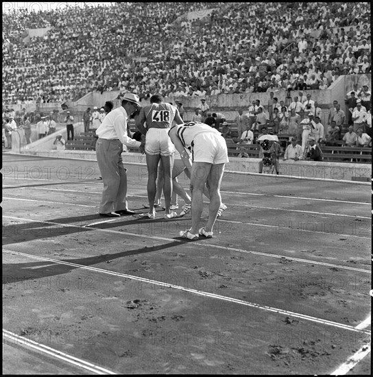
{"type": "Polygon", "coordinates": [[[3,154],[4,374],[370,375],[369,186],[226,173],[213,239],[183,241],[190,215],[99,217],[98,178],[3,154]]]}

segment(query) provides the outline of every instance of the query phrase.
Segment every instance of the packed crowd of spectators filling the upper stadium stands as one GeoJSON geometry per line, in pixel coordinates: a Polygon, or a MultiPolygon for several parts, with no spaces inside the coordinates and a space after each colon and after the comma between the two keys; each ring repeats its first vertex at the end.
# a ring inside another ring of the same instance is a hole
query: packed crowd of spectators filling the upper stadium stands
{"type": "Polygon", "coordinates": [[[203,96],[325,89],[370,73],[370,3],[114,3],[3,14],[3,104],[98,90],[203,96]],[[212,11],[211,11],[212,10],[212,11]],[[180,18],[206,12],[202,19],[180,18]],[[25,29],[50,27],[23,42],[25,29]]]}

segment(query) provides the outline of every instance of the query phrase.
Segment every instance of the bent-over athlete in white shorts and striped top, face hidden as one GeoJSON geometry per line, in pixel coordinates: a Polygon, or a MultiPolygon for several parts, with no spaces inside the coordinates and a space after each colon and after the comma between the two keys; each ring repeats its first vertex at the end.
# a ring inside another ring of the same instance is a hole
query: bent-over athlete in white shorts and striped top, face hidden
{"type": "Polygon", "coordinates": [[[200,122],[176,125],[169,131],[169,136],[179,151],[186,169],[191,171],[192,226],[189,230],[180,232],[180,236],[191,240],[198,239],[199,234],[211,238],[217,213],[221,208],[220,185],[224,166],[229,162],[226,141],[215,128],[200,122]],[[186,149],[191,149],[193,162],[186,149]],[[208,221],[204,228],[199,228],[205,184],[210,194],[208,221]]]}

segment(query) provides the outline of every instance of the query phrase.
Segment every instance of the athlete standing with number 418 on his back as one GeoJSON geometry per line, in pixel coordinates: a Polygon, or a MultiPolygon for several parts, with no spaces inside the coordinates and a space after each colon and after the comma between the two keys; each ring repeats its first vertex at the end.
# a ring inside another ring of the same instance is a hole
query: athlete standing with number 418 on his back
{"type": "Polygon", "coordinates": [[[162,95],[159,94],[150,97],[150,105],[141,108],[139,117],[136,119],[136,127],[146,136],[147,198],[149,200],[149,213],[146,216],[149,219],[156,217],[154,199],[156,197],[156,180],[160,160],[162,161],[164,172],[165,218],[172,219],[177,216],[176,212],[172,212],[170,208],[174,147],[169,138],[167,138],[167,132],[171,128],[173,121],[177,124],[183,123],[179,110],[171,104],[166,104],[162,95]]]}

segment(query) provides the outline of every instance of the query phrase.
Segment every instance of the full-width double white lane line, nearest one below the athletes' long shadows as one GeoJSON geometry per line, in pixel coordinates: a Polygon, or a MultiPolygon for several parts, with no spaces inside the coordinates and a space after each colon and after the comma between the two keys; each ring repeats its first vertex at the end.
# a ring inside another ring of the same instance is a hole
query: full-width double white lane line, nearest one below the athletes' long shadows
{"type": "Polygon", "coordinates": [[[131,280],[136,280],[136,281],[141,281],[141,282],[145,282],[145,283],[149,283],[149,284],[158,285],[160,287],[168,287],[168,288],[178,289],[180,291],[194,293],[196,295],[202,295],[204,297],[210,297],[210,298],[215,298],[215,299],[218,299],[218,300],[232,302],[232,303],[235,303],[235,304],[250,306],[252,308],[258,308],[258,309],[262,309],[264,311],[279,313],[279,314],[282,314],[282,315],[288,315],[288,316],[291,316],[291,317],[304,319],[306,321],[313,321],[313,322],[317,322],[318,324],[324,324],[324,325],[333,326],[333,327],[337,327],[337,328],[343,328],[344,330],[350,330],[350,331],[354,331],[354,332],[363,332],[364,334],[370,334],[370,330],[360,330],[360,329],[354,328],[354,326],[339,324],[338,322],[328,321],[327,319],[321,319],[321,318],[317,318],[317,317],[312,317],[310,315],[304,315],[304,314],[301,314],[301,313],[294,313],[294,312],[291,312],[291,311],[284,311],[282,309],[273,308],[272,306],[260,305],[260,304],[256,304],[256,303],[253,303],[253,302],[247,302],[247,301],[235,299],[235,298],[232,298],[232,297],[217,295],[215,293],[208,293],[208,292],[204,292],[204,291],[199,291],[197,289],[185,288],[185,287],[175,285],[175,284],[159,282],[157,280],[140,278],[139,276],[132,276],[132,275],[128,275],[126,273],[108,271],[106,269],[100,269],[100,268],[97,268],[97,267],[79,265],[77,263],[70,263],[70,262],[67,262],[67,261],[64,261],[64,260],[45,258],[43,256],[33,256],[33,255],[30,255],[30,254],[25,254],[25,253],[21,253],[21,252],[12,252],[12,250],[3,250],[3,252],[8,253],[8,254],[16,254],[16,255],[20,255],[20,256],[27,256],[29,258],[38,259],[38,260],[47,260],[48,262],[54,262],[54,263],[57,263],[59,265],[68,265],[68,266],[77,267],[77,268],[80,268],[80,269],[88,269],[88,270],[96,271],[96,272],[100,272],[100,273],[107,273],[108,275],[119,276],[121,278],[128,278],[128,279],[131,279],[131,280]]]}

